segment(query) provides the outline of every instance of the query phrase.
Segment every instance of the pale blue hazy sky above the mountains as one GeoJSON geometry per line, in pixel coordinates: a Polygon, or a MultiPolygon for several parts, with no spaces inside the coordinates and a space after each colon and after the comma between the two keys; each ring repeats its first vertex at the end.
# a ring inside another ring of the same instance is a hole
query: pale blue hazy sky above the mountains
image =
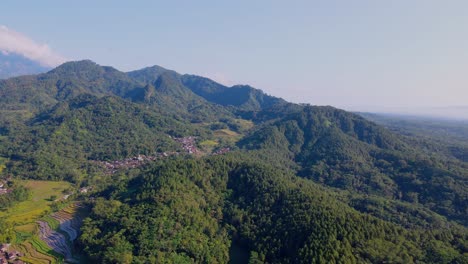
{"type": "Polygon", "coordinates": [[[353,111],[468,106],[468,1],[3,0],[0,25],[0,49],[46,65],[156,64],[353,111]]]}

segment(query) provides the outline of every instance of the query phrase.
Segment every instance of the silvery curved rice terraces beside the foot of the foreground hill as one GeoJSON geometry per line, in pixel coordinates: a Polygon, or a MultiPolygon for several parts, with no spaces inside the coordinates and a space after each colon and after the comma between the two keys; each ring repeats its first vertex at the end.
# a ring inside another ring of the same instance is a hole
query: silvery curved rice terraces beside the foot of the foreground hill
{"type": "Polygon", "coordinates": [[[67,262],[78,262],[73,254],[73,241],[78,237],[84,212],[79,203],[73,203],[52,214],[52,219],[38,221],[39,237],[55,252],[64,256],[67,262]],[[58,228],[53,228],[57,225],[58,228]],[[51,228],[51,226],[53,228],[51,228]]]}

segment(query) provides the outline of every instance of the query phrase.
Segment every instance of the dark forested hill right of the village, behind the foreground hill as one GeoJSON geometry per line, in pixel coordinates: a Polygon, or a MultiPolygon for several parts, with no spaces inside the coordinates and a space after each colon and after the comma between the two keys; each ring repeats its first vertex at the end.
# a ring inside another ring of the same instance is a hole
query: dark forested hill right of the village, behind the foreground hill
{"type": "Polygon", "coordinates": [[[307,106],[260,127],[240,146],[294,161],[301,177],[356,193],[417,202],[467,224],[467,164],[429,155],[424,144],[400,138],[358,115],[307,106]]]}

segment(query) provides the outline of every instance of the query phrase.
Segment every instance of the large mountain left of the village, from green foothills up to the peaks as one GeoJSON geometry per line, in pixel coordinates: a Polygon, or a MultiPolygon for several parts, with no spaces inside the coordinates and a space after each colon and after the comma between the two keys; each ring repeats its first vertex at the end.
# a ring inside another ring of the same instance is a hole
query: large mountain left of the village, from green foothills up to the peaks
{"type": "Polygon", "coordinates": [[[84,60],[0,80],[1,142],[15,153],[12,170],[70,179],[86,174],[90,159],[174,150],[169,136],[208,138],[210,126],[240,129],[231,110],[193,93],[178,73],[149,69],[127,74],[84,60]]]}

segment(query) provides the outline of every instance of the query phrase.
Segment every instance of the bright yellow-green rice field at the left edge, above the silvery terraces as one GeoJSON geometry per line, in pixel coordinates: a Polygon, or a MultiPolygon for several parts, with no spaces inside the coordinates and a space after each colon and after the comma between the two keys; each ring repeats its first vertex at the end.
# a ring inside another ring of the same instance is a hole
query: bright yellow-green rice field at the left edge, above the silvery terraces
{"type": "Polygon", "coordinates": [[[15,229],[21,232],[33,232],[35,221],[50,212],[51,196],[63,197],[63,191],[70,183],[63,181],[18,181],[32,191],[32,198],[20,202],[6,211],[0,212],[8,222],[13,222],[15,229]]]}

